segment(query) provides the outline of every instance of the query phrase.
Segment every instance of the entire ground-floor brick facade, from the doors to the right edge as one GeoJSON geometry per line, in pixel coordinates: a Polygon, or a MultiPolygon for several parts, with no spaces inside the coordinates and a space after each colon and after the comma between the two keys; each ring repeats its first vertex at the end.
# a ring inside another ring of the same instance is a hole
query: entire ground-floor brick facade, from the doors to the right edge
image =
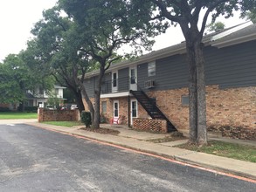
{"type": "MultiPolygon", "coordinates": [[[[151,91],[147,94],[150,98],[156,98],[156,105],[178,130],[188,131],[189,106],[182,104],[182,96],[188,95],[188,88],[151,91]]],[[[128,97],[101,99],[107,101],[107,113],[104,114],[107,122],[113,117],[114,100],[119,101],[119,114],[124,116],[121,124],[128,125],[128,97]]],[[[219,89],[218,86],[206,86],[206,112],[207,127],[211,127],[209,130],[232,138],[256,140],[256,87],[219,89]],[[223,127],[232,127],[235,131],[223,127]]],[[[140,126],[136,127],[145,130],[141,125],[148,125],[148,122],[149,114],[138,104],[138,120],[134,120],[134,123],[140,126]],[[141,119],[146,121],[142,122],[141,119]]]]}

